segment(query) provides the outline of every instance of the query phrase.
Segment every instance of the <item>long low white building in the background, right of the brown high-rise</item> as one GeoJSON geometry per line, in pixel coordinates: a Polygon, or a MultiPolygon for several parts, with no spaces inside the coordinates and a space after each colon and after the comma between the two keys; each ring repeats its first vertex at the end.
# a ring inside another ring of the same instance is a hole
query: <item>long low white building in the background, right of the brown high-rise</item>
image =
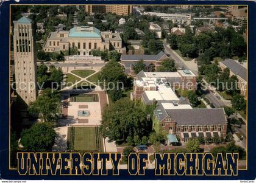
{"type": "Polygon", "coordinates": [[[171,20],[174,24],[190,25],[192,16],[191,14],[171,14],[171,13],[157,13],[157,12],[144,12],[144,15],[159,16],[164,20],[171,20]]]}

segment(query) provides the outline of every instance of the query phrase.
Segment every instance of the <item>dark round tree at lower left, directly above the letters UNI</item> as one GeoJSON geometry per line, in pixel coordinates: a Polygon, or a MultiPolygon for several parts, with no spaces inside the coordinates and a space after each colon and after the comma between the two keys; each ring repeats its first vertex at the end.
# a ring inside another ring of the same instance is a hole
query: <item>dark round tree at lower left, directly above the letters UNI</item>
{"type": "Polygon", "coordinates": [[[29,129],[23,129],[20,143],[24,151],[51,151],[57,134],[50,123],[35,123],[29,129]]]}

